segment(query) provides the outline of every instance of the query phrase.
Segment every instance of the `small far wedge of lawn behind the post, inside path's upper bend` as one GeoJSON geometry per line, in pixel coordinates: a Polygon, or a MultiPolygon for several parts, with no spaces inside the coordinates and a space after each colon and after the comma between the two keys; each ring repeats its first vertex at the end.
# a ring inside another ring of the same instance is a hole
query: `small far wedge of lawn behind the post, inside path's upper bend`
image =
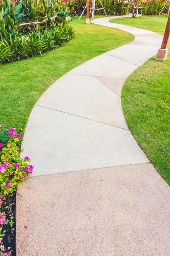
{"type": "Polygon", "coordinates": [[[167,24],[167,17],[167,14],[162,14],[160,16],[142,16],[138,18],[127,17],[110,20],[110,22],[147,29],[164,35],[164,30],[167,24]]]}

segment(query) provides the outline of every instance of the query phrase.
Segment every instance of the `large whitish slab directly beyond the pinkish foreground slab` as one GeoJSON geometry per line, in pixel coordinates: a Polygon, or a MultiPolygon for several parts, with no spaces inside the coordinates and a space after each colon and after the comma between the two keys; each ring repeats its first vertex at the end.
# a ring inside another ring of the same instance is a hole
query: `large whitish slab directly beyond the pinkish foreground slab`
{"type": "Polygon", "coordinates": [[[33,175],[149,162],[130,131],[39,106],[22,148],[33,175]]]}

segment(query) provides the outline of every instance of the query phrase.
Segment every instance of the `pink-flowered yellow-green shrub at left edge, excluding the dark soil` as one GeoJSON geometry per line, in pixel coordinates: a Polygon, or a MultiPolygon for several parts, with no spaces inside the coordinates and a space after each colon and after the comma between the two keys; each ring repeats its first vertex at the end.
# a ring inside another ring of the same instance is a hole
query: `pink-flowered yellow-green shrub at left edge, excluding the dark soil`
{"type": "MultiPolygon", "coordinates": [[[[7,201],[7,197],[15,193],[21,182],[28,179],[34,168],[34,166],[28,164],[30,162],[28,156],[20,157],[18,147],[20,139],[21,135],[17,134],[14,128],[6,129],[4,125],[0,125],[0,244],[5,236],[1,233],[3,225],[9,224],[12,227],[14,224],[12,212],[10,220],[6,220],[5,212],[1,210],[3,203],[7,201]]],[[[5,209],[8,208],[11,211],[10,205],[5,207],[5,209]]],[[[11,252],[12,250],[8,252],[0,251],[0,256],[10,256],[11,252]]]]}

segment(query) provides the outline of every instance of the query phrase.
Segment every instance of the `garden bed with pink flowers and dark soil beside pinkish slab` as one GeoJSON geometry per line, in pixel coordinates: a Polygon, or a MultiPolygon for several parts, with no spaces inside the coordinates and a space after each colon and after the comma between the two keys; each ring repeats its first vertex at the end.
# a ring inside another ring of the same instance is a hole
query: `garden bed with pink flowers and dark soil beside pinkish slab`
{"type": "Polygon", "coordinates": [[[21,135],[0,125],[0,256],[15,256],[15,196],[17,186],[28,179],[34,166],[20,158],[21,135]]]}

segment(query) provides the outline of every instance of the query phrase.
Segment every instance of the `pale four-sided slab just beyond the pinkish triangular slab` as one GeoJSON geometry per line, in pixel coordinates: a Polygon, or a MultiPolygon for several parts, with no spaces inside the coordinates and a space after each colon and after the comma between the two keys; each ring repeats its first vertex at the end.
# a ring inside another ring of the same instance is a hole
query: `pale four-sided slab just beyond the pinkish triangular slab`
{"type": "Polygon", "coordinates": [[[136,68],[137,66],[134,64],[108,54],[102,54],[74,68],[68,74],[127,78],[136,68]]]}

